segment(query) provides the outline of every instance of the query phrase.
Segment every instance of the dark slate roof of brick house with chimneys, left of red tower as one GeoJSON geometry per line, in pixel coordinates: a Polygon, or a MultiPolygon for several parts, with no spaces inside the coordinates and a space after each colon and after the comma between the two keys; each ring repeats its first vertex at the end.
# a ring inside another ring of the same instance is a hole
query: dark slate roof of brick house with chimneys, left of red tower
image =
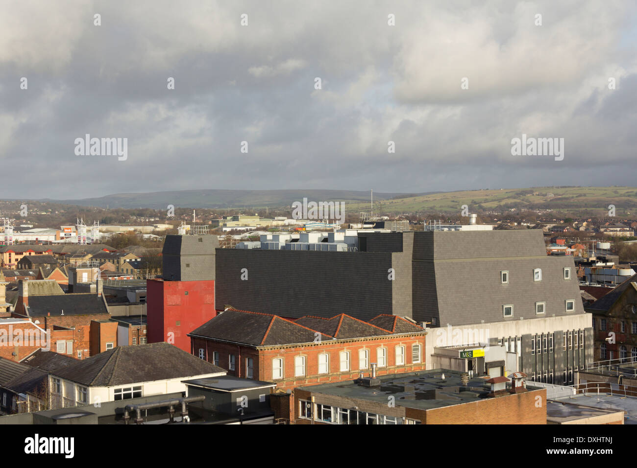
{"type": "Polygon", "coordinates": [[[93,293],[39,295],[29,294],[29,316],[108,314],[103,299],[93,293]]]}

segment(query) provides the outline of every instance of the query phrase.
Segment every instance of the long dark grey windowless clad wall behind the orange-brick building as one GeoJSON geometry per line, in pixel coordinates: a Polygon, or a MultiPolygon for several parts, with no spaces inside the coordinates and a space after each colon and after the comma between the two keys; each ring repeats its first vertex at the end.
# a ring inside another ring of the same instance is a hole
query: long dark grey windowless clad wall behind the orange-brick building
{"type": "MultiPolygon", "coordinates": [[[[390,252],[217,249],[217,304],[297,318],[392,313],[390,252]],[[241,269],[247,280],[241,280],[241,269]]],[[[400,272],[397,272],[400,274],[400,272]]]]}

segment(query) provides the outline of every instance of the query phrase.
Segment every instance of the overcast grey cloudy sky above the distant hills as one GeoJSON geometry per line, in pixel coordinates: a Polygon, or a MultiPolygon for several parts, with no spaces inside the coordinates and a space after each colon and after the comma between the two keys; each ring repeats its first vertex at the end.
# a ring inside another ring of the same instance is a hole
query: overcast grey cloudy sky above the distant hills
{"type": "Polygon", "coordinates": [[[634,187],[636,49],[624,1],[4,0],[0,197],[634,187]]]}

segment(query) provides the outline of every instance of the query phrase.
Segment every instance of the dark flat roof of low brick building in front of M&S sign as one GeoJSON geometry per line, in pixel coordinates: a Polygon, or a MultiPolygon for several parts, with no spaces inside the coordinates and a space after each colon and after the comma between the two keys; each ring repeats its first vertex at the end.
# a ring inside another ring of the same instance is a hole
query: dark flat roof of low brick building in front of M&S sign
{"type": "Polygon", "coordinates": [[[387,404],[388,395],[394,395],[396,406],[417,409],[443,408],[487,398],[491,388],[486,382],[489,376],[470,378],[466,388],[461,386],[460,376],[461,372],[459,371],[433,369],[379,376],[381,384],[372,387],[358,385],[350,380],[297,388],[312,394],[353,398],[382,404],[387,404]],[[443,374],[445,379],[441,378],[443,374]]]}

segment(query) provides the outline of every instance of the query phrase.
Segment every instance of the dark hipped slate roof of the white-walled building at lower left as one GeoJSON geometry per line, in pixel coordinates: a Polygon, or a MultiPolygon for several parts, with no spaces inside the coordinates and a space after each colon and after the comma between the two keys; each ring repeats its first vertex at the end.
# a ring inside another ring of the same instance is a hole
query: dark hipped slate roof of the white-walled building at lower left
{"type": "Polygon", "coordinates": [[[168,343],[117,346],[51,372],[87,386],[188,378],[225,370],[168,343]]]}

